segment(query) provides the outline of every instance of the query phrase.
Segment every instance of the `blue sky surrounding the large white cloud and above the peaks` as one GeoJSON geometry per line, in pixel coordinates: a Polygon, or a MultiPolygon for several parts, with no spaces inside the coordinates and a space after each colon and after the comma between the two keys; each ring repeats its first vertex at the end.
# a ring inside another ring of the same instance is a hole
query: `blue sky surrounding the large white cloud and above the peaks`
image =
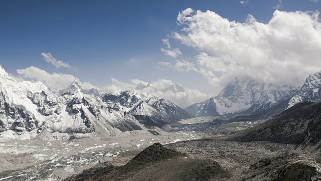
{"type": "Polygon", "coordinates": [[[111,84],[111,77],[126,83],[167,79],[208,95],[217,94],[222,84],[213,85],[204,74],[159,66],[158,62],[176,59],[193,62],[201,51],[167,37],[181,32],[176,19],[187,8],[210,10],[240,23],[250,14],[266,24],[276,9],[315,12],[321,6],[310,0],[249,0],[244,4],[232,0],[0,1],[0,63],[17,76],[17,69],[34,66],[48,73],[71,74],[100,87],[111,84]],[[166,48],[164,38],[182,55],[166,56],[161,51],[166,48]],[[44,61],[43,52],[72,68],[56,68],[44,61]]]}

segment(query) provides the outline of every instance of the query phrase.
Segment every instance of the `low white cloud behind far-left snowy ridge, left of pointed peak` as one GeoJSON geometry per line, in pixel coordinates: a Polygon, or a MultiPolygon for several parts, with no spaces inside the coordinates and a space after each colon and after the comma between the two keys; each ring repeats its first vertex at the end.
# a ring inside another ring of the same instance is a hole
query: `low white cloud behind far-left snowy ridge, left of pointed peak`
{"type": "Polygon", "coordinates": [[[76,78],[70,74],[48,73],[45,70],[34,66],[18,69],[17,73],[26,80],[42,81],[46,86],[54,91],[66,88],[76,78]]]}

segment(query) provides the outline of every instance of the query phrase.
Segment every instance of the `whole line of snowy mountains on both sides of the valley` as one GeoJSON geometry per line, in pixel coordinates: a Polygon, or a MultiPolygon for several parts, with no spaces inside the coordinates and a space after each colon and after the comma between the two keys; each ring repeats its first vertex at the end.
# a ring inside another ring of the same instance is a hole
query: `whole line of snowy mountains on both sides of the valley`
{"type": "MultiPolygon", "coordinates": [[[[167,124],[199,116],[273,116],[302,101],[320,102],[320,87],[321,71],[310,74],[298,89],[236,77],[218,96],[183,110],[147,93],[118,90],[100,95],[95,88],[83,88],[77,78],[57,93],[40,81],[17,82],[0,67],[0,132],[19,139],[160,134],[167,124]]],[[[168,89],[180,92],[184,87],[173,84],[168,89]]]]}

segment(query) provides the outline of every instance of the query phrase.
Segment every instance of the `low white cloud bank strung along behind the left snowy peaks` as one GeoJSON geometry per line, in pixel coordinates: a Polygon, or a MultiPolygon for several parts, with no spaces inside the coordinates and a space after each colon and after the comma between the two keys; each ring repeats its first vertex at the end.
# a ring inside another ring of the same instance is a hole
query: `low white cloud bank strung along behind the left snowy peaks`
{"type": "MultiPolygon", "coordinates": [[[[48,73],[47,71],[34,66],[18,69],[17,73],[18,76],[13,75],[13,77],[18,81],[42,81],[47,87],[56,92],[65,89],[76,79],[76,77],[71,74],[48,73]]],[[[102,87],[95,86],[90,82],[83,82],[81,87],[84,89],[95,88],[100,94],[111,93],[118,89],[123,91],[134,91],[136,93],[148,93],[158,98],[168,99],[181,107],[187,107],[194,103],[202,102],[213,96],[203,94],[198,89],[186,88],[183,85],[165,79],[157,79],[150,83],[139,79],[132,79],[130,80],[130,83],[125,83],[111,77],[111,83],[102,87]]]]}

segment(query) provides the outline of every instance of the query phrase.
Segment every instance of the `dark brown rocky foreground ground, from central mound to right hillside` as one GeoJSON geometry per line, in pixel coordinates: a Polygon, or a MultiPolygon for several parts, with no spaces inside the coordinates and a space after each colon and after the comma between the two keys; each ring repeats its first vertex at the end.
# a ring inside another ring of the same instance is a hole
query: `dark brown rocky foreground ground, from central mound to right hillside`
{"type": "Polygon", "coordinates": [[[320,116],[321,103],[302,102],[248,130],[165,145],[172,151],[154,144],[124,166],[99,165],[68,180],[321,180],[320,116]],[[168,152],[177,157],[163,160],[168,152]]]}

